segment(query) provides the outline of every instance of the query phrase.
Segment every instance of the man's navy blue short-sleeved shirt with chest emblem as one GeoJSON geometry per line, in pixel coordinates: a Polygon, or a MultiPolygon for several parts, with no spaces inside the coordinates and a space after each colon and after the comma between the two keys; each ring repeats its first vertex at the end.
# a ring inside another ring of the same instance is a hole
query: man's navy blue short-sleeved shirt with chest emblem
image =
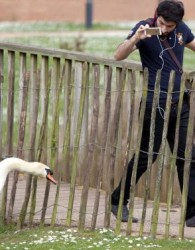
{"type": "MultiPolygon", "coordinates": [[[[153,19],[150,20],[153,21],[153,19]]],[[[128,35],[127,39],[130,39],[135,34],[140,25],[146,24],[148,24],[147,20],[143,20],[137,23],[136,26],[132,29],[131,33],[128,35]]],[[[190,28],[184,22],[181,22],[172,32],[169,33],[167,39],[180,64],[183,65],[185,44],[190,43],[194,40],[194,35],[192,34],[190,28]]],[[[147,102],[152,103],[156,73],[159,69],[162,69],[159,102],[164,104],[166,101],[166,93],[168,91],[168,83],[171,70],[174,70],[176,72],[172,101],[177,101],[179,98],[181,73],[179,72],[178,66],[167,51],[167,48],[160,40],[160,37],[152,36],[150,38],[140,40],[136,44],[136,47],[138,48],[140,53],[143,69],[147,67],[149,70],[149,92],[147,102]],[[160,56],[162,57],[160,58],[160,56]]]]}

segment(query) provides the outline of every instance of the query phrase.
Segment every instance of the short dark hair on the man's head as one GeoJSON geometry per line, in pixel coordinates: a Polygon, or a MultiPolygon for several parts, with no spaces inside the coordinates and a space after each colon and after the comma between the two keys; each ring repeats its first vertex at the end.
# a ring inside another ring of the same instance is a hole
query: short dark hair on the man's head
{"type": "Polygon", "coordinates": [[[156,9],[157,16],[162,16],[167,22],[180,23],[184,16],[184,6],[181,1],[164,0],[156,9]]]}

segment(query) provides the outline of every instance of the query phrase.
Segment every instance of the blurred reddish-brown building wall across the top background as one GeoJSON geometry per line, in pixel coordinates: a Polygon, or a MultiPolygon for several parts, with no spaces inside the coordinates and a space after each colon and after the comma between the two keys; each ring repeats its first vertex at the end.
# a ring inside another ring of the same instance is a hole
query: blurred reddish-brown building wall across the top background
{"type": "MultiPolygon", "coordinates": [[[[93,21],[152,17],[158,0],[92,0],[93,21]]],[[[87,0],[0,0],[1,21],[84,22],[87,0]]],[[[195,20],[195,1],[183,0],[185,19],[195,20]]]]}

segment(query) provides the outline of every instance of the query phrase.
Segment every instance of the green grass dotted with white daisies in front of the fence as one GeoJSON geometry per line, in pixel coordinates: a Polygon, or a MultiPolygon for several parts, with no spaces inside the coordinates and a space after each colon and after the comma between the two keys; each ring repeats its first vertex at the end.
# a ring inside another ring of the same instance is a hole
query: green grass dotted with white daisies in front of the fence
{"type": "Polygon", "coordinates": [[[78,233],[76,229],[44,228],[16,231],[6,227],[0,229],[0,250],[119,250],[119,249],[194,249],[194,240],[150,239],[148,237],[116,236],[112,230],[100,229],[94,232],[78,233]]]}

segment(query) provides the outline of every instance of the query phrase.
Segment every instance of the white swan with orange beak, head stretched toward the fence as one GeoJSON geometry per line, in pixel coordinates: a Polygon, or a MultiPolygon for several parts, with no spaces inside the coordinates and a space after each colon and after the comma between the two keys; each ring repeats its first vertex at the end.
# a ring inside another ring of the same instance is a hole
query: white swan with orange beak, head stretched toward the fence
{"type": "Polygon", "coordinates": [[[54,184],[57,183],[52,177],[53,171],[45,164],[40,162],[27,162],[16,157],[10,157],[0,162],[0,192],[3,189],[8,173],[12,170],[44,177],[54,184]]]}

